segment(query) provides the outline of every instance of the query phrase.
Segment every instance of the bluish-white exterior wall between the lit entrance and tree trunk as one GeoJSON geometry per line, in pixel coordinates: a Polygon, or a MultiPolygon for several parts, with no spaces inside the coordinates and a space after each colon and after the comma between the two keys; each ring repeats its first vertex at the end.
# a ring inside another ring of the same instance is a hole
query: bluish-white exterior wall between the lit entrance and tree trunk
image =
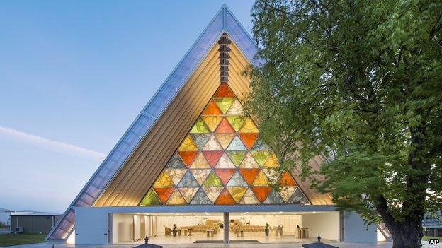
{"type": "Polygon", "coordinates": [[[344,242],[376,242],[376,225],[369,225],[365,228],[365,223],[358,213],[344,211],[344,242]]]}

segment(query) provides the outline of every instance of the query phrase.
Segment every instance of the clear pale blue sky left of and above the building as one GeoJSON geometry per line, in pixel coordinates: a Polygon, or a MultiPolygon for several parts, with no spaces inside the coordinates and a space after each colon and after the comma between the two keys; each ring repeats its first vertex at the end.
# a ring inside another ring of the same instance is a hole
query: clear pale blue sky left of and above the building
{"type": "Polygon", "coordinates": [[[0,208],[63,212],[222,4],[0,1],[0,208]]]}

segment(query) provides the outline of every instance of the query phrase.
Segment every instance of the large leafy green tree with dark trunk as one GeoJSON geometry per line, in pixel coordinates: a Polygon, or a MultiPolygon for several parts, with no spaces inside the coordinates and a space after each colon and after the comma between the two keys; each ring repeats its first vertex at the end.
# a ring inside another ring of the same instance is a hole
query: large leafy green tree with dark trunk
{"type": "Polygon", "coordinates": [[[441,207],[441,1],[259,0],[261,65],[247,106],[283,169],[302,162],[322,192],[393,247],[420,247],[425,211],[441,207]]]}

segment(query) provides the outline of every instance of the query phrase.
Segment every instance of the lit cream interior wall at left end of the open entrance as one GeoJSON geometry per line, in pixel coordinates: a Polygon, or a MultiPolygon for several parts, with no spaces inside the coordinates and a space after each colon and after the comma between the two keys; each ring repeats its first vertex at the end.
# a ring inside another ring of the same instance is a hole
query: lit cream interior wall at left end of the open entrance
{"type": "Polygon", "coordinates": [[[112,215],[112,242],[132,242],[133,215],[113,213],[112,215]]]}

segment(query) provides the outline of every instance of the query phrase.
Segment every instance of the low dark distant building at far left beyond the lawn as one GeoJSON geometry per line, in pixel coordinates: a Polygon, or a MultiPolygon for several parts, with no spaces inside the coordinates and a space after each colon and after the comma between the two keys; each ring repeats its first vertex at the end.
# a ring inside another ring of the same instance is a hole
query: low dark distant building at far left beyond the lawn
{"type": "Polygon", "coordinates": [[[11,232],[47,233],[61,213],[14,212],[11,213],[11,232]]]}

